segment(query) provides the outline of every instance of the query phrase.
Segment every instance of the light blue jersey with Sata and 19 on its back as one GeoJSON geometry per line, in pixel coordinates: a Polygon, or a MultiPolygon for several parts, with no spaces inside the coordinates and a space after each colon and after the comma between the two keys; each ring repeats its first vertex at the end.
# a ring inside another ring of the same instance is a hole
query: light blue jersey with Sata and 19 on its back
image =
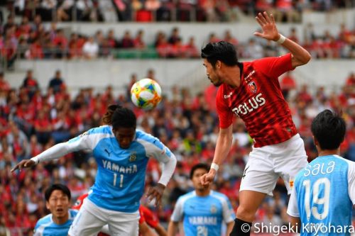
{"type": "Polygon", "coordinates": [[[355,162],[317,157],[300,171],[288,214],[299,217],[301,235],[350,235],[355,204],[355,162]]]}

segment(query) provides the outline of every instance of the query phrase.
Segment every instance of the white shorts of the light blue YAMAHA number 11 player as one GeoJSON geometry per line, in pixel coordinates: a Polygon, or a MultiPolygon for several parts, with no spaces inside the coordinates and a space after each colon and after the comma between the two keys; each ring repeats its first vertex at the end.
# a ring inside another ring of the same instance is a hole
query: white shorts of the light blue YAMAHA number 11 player
{"type": "Polygon", "coordinates": [[[111,236],[133,235],[138,236],[139,212],[124,213],[107,210],[96,206],[85,198],[82,207],[77,213],[68,235],[70,236],[96,236],[104,225],[109,225],[111,236]]]}

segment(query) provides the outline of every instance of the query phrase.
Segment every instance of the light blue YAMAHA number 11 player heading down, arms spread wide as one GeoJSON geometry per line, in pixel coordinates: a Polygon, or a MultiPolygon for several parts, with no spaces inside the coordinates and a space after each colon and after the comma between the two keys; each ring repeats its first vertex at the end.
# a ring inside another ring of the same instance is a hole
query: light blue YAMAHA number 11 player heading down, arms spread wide
{"type": "Polygon", "coordinates": [[[148,201],[160,204],[166,184],[173,175],[176,159],[156,137],[136,130],[133,111],[109,106],[103,121],[82,135],[50,147],[31,159],[16,164],[12,171],[32,167],[38,162],[57,159],[69,152],[92,150],[97,176],[92,193],[84,200],[69,235],[97,235],[109,225],[110,235],[138,235],[139,201],[144,191],[148,159],[163,164],[158,184],[148,191],[148,201]]]}

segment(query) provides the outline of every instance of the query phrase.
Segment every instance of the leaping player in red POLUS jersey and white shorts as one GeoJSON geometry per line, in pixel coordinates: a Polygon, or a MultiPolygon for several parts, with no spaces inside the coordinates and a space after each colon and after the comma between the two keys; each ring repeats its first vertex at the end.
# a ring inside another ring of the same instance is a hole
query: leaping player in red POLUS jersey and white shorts
{"type": "Polygon", "coordinates": [[[279,176],[288,193],[295,174],[307,164],[305,147],[293,123],[288,104],[281,93],[278,77],[310,61],[310,53],[278,33],[268,13],[258,13],[256,21],[263,32],[254,35],[283,45],[290,53],[253,62],[238,62],[233,45],[209,43],[201,56],[208,79],[219,86],[216,98],[219,137],[209,173],[201,177],[209,184],[217,174],[232,142],[234,115],[246,124],[253,138],[239,193],[240,205],[231,235],[250,235],[250,226],[266,194],[272,194],[279,176]]]}

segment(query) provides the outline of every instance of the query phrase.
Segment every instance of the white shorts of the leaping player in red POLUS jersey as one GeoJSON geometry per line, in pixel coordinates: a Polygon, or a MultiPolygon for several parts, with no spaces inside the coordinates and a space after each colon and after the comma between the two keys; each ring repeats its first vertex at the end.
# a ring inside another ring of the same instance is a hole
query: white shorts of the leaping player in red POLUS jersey
{"type": "Polygon", "coordinates": [[[278,177],[291,193],[296,174],[308,164],[305,144],[299,134],[276,145],[253,147],[239,191],[251,190],[273,196],[278,177]]]}

